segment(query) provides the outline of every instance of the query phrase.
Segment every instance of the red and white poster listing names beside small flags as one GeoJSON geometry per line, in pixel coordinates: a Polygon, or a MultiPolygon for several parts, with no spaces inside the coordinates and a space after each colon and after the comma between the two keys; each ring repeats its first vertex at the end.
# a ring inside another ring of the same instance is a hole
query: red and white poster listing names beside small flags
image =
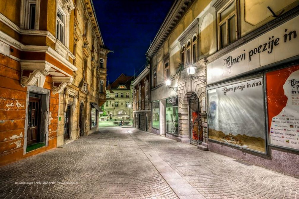
{"type": "Polygon", "coordinates": [[[299,149],[299,66],[266,73],[269,144],[299,149]]]}

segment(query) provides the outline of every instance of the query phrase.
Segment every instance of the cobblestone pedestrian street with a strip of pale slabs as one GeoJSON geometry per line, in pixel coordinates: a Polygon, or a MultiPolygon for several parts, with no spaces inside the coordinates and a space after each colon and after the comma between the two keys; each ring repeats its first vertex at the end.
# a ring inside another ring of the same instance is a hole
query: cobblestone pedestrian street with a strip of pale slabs
{"type": "Polygon", "coordinates": [[[1,167],[0,179],[0,198],[299,198],[297,178],[119,127],[1,167]]]}

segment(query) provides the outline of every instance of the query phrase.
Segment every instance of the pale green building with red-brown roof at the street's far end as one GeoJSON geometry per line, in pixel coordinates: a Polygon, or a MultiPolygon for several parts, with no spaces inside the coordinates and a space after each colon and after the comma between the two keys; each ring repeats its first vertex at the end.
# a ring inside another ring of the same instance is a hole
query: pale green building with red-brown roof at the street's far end
{"type": "Polygon", "coordinates": [[[123,73],[106,88],[106,102],[104,110],[108,115],[108,120],[131,120],[133,87],[131,85],[134,76],[126,76],[123,73]],[[127,117],[118,117],[118,114],[126,114],[127,117]]]}

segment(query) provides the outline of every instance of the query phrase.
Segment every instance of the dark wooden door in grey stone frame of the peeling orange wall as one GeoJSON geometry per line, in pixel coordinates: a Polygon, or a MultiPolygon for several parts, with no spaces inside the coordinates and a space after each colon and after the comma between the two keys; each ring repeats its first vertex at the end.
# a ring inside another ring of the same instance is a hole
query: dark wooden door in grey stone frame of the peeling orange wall
{"type": "Polygon", "coordinates": [[[40,98],[39,94],[30,94],[28,105],[27,146],[39,142],[40,135],[40,98]]]}

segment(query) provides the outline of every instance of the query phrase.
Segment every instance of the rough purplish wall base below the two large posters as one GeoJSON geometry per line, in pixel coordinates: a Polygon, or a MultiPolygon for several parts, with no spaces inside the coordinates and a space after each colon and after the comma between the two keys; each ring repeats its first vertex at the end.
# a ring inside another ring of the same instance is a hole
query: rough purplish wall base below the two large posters
{"type": "Polygon", "coordinates": [[[299,152],[269,147],[269,155],[208,141],[209,151],[299,178],[299,152]]]}

